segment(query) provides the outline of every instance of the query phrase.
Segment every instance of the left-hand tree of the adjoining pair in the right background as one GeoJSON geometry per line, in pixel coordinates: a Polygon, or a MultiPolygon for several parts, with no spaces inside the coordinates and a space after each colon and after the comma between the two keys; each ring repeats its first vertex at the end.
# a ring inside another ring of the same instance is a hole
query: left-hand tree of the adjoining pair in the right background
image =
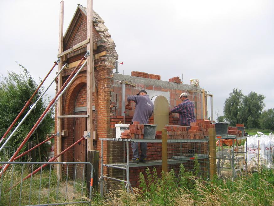
{"type": "Polygon", "coordinates": [[[238,88],[233,89],[224,102],[224,116],[230,122],[230,125],[235,126],[240,123],[239,112],[242,105],[243,98],[242,90],[238,88]]]}

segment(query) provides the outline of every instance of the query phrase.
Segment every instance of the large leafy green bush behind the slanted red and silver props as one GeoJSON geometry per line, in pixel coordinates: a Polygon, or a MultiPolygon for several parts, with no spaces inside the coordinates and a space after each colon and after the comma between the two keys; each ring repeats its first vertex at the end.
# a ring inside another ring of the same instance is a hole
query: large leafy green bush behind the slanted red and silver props
{"type": "MultiPolygon", "coordinates": [[[[25,105],[25,101],[29,100],[31,95],[34,93],[38,87],[35,80],[30,76],[28,70],[22,65],[19,65],[22,71],[17,74],[14,72],[8,72],[7,77],[2,75],[2,80],[0,82],[0,135],[1,137],[7,131],[10,124],[16,118],[18,113],[21,111],[25,105]]],[[[34,96],[33,102],[35,102],[38,97],[43,92],[43,87],[40,88],[38,93],[34,96]]],[[[8,142],[7,146],[13,146],[15,149],[22,143],[23,139],[27,136],[31,128],[39,119],[40,115],[45,111],[47,106],[45,99],[40,99],[37,103],[37,107],[33,110],[29,116],[25,119],[24,123],[18,128],[16,133],[14,133],[12,139],[8,142]]],[[[21,115],[17,123],[14,125],[10,133],[22,120],[25,114],[28,112],[28,108],[21,115]]],[[[46,134],[49,134],[54,126],[53,111],[44,119],[44,121],[37,128],[37,133],[35,132],[29,141],[36,141],[36,135],[38,135],[39,142],[45,140],[46,134]]],[[[8,136],[6,138],[8,138],[8,136]]],[[[48,147],[47,144],[41,145],[41,153],[45,151],[48,147]]],[[[27,144],[24,145],[23,149],[20,151],[26,151],[27,144]]],[[[43,154],[43,153],[42,153],[43,154]]]]}

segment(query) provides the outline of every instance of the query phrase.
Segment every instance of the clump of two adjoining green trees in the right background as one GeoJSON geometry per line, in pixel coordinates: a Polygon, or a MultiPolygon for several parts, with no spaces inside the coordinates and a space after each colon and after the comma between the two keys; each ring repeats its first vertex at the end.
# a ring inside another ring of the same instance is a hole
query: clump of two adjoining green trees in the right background
{"type": "Polygon", "coordinates": [[[264,99],[264,95],[258,95],[256,92],[243,95],[242,90],[233,89],[224,102],[224,116],[231,126],[240,123],[247,128],[258,128],[261,111],[265,106],[264,99]]]}

